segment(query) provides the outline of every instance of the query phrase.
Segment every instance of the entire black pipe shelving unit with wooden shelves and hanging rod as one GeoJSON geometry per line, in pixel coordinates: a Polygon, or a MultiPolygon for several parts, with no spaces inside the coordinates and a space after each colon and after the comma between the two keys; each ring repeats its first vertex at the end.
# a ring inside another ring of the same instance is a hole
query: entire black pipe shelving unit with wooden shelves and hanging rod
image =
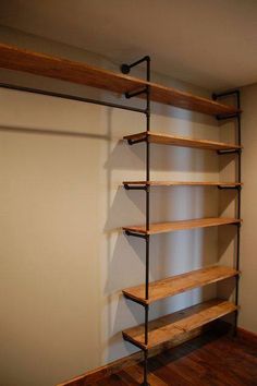
{"type": "Polygon", "coordinates": [[[48,92],[39,88],[23,87],[13,84],[1,83],[0,86],[9,89],[17,89],[27,93],[49,95],[51,97],[78,100],[91,104],[99,104],[112,108],[121,108],[144,113],[146,117],[146,130],[143,133],[127,135],[124,137],[130,145],[140,142],[146,144],[146,177],[140,181],[124,181],[126,190],[143,190],[146,194],[146,221],[142,226],[126,226],[123,228],[127,236],[138,237],[145,241],[146,269],[145,282],[140,286],[124,289],[123,294],[131,301],[137,302],[144,306],[145,323],[140,326],[132,327],[123,331],[125,340],[132,342],[144,351],[144,381],[143,385],[148,384],[148,350],[155,346],[172,340],[178,336],[191,331],[197,327],[204,326],[209,322],[223,315],[235,314],[235,328],[237,323],[238,309],[238,275],[240,275],[240,225],[241,225],[241,106],[240,93],[230,92],[220,95],[213,95],[212,99],[194,96],[188,93],[166,87],[150,82],[150,58],[144,57],[132,64],[123,64],[121,70],[123,74],[117,74],[111,71],[101,70],[87,65],[82,62],[75,62],[63,58],[50,57],[48,55],[32,52],[17,47],[0,44],[0,68],[23,71],[36,75],[48,76],[62,81],[68,81],[81,85],[97,87],[125,95],[127,99],[140,97],[146,100],[146,108],[133,107],[128,104],[120,105],[109,101],[96,100],[74,95],[48,92]],[[138,80],[128,76],[131,69],[140,63],[146,64],[146,80],[138,80]],[[236,106],[229,106],[218,101],[227,96],[236,96],[236,106]],[[170,134],[156,133],[150,130],[150,101],[157,101],[166,105],[198,111],[210,114],[219,120],[237,120],[237,143],[228,144],[206,140],[194,140],[170,134]],[[235,154],[238,156],[237,181],[235,182],[194,182],[194,181],[152,181],[150,179],[150,145],[166,144],[171,146],[184,146],[192,148],[201,148],[204,150],[215,150],[218,155],[235,154]],[[200,218],[183,221],[170,221],[151,224],[150,221],[150,189],[152,186],[217,186],[219,189],[237,190],[237,213],[236,218],[200,218]],[[150,238],[152,234],[171,232],[184,229],[195,229],[205,227],[215,227],[223,225],[237,226],[237,246],[234,267],[212,266],[186,273],[184,275],[164,278],[155,282],[149,282],[150,264],[150,238]],[[166,315],[157,321],[149,322],[149,305],[152,302],[172,297],[176,293],[188,291],[193,288],[203,287],[211,282],[218,282],[230,277],[236,278],[235,302],[213,299],[201,304],[191,306],[171,315],[166,315]]]}

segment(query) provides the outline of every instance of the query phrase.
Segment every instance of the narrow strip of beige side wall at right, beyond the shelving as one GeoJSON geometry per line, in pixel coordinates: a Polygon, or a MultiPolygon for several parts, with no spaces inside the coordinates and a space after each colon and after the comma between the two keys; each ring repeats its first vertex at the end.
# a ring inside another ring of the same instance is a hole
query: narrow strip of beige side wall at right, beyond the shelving
{"type": "Polygon", "coordinates": [[[242,191],[242,279],[240,302],[242,311],[240,325],[250,331],[257,333],[257,216],[256,193],[257,193],[257,84],[242,89],[242,141],[244,152],[242,158],[244,189],[242,191]]]}

